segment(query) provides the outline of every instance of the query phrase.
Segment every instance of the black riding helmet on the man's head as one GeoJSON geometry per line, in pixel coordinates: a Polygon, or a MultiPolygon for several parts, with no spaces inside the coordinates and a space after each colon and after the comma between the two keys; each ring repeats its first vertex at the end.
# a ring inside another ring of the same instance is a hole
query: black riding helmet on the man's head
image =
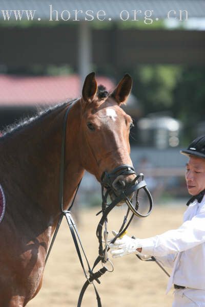
{"type": "Polygon", "coordinates": [[[196,138],[187,149],[181,150],[180,153],[205,159],[205,136],[196,138]]]}

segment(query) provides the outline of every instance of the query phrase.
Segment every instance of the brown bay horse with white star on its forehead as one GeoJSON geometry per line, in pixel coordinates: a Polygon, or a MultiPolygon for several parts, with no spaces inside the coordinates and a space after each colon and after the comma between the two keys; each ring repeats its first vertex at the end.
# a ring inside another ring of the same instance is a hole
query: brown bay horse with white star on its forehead
{"type": "MultiPolygon", "coordinates": [[[[120,107],[131,87],[128,74],[112,93],[97,86],[94,73],[86,77],[82,97],[67,118],[64,209],[85,170],[100,182],[105,171],[132,165],[132,119],[120,107]]],[[[60,214],[62,123],[68,105],[52,107],[0,138],[0,184],[6,199],[0,224],[1,307],[23,307],[42,287],[45,258],[60,214]]],[[[128,185],[135,175],[119,177],[113,182],[115,195],[122,189],[120,181],[128,185]]]]}

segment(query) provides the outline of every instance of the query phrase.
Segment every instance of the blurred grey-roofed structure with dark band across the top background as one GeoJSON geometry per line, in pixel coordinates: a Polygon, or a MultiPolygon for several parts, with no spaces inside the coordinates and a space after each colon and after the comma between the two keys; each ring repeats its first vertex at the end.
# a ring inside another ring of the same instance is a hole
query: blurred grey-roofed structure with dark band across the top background
{"type": "MultiPolygon", "coordinates": [[[[98,71],[113,67],[116,77],[119,70],[129,70],[136,63],[205,63],[204,31],[152,28],[156,20],[168,19],[170,11],[175,12],[171,14],[175,21],[180,18],[180,10],[187,11],[189,19],[204,17],[205,3],[201,0],[0,0],[0,6],[8,11],[36,10],[27,27],[20,27],[27,19],[26,14],[17,23],[18,27],[14,14],[5,22],[0,15],[0,21],[4,22],[0,28],[0,69],[4,71],[66,63],[83,79],[93,65],[98,71]],[[88,10],[93,12],[93,19],[86,15],[88,10]],[[141,11],[137,17],[136,10],[141,11]],[[150,10],[151,16],[146,17],[150,10]],[[134,27],[140,20],[146,23],[146,28],[134,27]],[[100,27],[104,21],[109,25],[100,27]],[[121,29],[119,23],[126,21],[133,27],[121,29]]],[[[182,20],[186,19],[185,12],[182,20]]]]}

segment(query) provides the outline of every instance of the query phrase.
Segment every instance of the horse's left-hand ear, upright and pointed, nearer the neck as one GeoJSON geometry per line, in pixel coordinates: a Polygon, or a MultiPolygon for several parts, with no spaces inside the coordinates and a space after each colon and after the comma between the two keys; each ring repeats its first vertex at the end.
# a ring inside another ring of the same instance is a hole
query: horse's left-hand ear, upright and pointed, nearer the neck
{"type": "Polygon", "coordinates": [[[95,73],[90,73],[85,81],[82,91],[83,100],[85,102],[92,102],[97,92],[97,81],[95,79],[95,73]]]}

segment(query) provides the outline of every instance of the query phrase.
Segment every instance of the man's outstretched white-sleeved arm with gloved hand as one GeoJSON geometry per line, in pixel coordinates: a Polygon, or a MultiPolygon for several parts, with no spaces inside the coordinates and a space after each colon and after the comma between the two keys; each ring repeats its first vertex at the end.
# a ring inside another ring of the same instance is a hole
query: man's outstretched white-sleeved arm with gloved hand
{"type": "Polygon", "coordinates": [[[205,212],[183,223],[178,229],[146,239],[124,236],[110,245],[111,254],[120,257],[131,253],[161,257],[193,248],[205,242],[205,212]]]}

